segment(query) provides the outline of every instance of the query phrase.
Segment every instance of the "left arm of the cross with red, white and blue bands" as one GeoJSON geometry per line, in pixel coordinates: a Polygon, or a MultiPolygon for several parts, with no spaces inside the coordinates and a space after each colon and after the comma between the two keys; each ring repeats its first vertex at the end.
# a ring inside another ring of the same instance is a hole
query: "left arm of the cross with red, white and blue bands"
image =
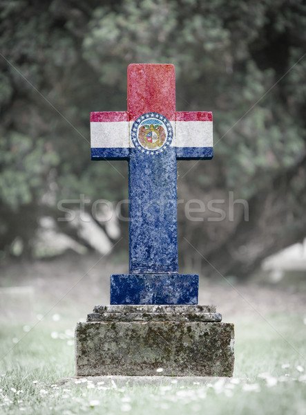
{"type": "Polygon", "coordinates": [[[91,160],[128,160],[130,137],[128,113],[90,113],[91,160]]]}

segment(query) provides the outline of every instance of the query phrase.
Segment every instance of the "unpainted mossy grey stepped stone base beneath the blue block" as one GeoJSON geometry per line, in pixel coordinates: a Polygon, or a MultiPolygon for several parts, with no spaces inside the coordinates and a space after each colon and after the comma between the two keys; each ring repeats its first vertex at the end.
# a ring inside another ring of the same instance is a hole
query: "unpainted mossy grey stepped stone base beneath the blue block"
{"type": "Polygon", "coordinates": [[[214,306],[96,306],[75,331],[77,376],[232,376],[220,320],[214,306]]]}

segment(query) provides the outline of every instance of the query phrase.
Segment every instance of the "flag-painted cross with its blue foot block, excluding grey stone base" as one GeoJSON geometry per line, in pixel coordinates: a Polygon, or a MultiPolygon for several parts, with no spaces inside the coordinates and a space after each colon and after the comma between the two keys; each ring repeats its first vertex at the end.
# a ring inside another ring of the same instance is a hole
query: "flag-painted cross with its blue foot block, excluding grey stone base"
{"type": "Polygon", "coordinates": [[[128,111],[90,121],[92,160],[129,164],[130,270],[111,304],[198,304],[198,275],[178,274],[176,160],[212,158],[211,112],[175,111],[173,65],[131,64],[128,111]]]}

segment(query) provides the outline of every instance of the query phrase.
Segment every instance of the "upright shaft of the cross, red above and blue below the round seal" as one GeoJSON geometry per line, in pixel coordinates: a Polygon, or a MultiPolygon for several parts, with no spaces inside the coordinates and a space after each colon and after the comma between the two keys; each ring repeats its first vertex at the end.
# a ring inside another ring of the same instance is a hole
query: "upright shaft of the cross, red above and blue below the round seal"
{"type": "MultiPolygon", "coordinates": [[[[128,118],[162,113],[175,122],[173,65],[128,66],[128,118]]],[[[160,154],[131,148],[130,273],[178,273],[175,147],[160,154]]]]}

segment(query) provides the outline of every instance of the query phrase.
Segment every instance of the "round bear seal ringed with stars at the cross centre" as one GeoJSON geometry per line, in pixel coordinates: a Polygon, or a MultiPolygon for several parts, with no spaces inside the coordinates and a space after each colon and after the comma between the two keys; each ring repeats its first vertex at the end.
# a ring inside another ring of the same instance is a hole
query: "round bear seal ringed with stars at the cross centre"
{"type": "Polygon", "coordinates": [[[171,122],[159,113],[146,113],[133,123],[131,131],[135,147],[146,154],[158,154],[166,150],[173,138],[171,122]]]}

